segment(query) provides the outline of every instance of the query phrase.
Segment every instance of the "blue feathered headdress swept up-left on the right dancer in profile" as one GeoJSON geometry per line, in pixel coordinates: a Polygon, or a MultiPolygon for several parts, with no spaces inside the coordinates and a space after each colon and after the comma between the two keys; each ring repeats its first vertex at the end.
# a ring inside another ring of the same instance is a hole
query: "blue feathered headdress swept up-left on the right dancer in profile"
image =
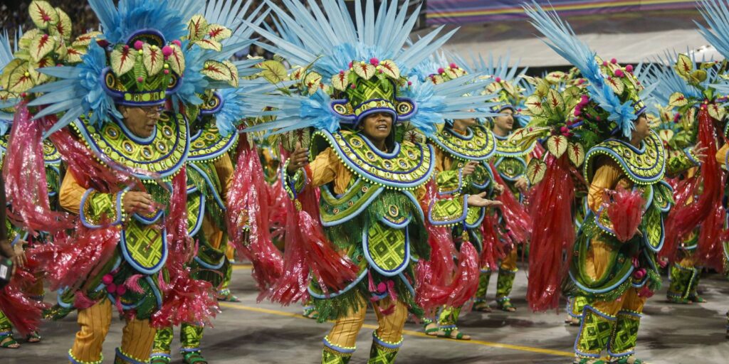
{"type": "Polygon", "coordinates": [[[580,115],[608,122],[611,133],[619,132],[630,138],[634,120],[645,111],[641,98],[644,88],[631,73],[632,67],[623,68],[615,59],[599,58],[587,44],[577,39],[572,27],[556,12],[545,12],[534,1],[531,6],[523,7],[531,18],[530,23],[547,37],[545,43],[577,67],[588,81],[585,87],[588,103],[580,106],[580,115]]]}

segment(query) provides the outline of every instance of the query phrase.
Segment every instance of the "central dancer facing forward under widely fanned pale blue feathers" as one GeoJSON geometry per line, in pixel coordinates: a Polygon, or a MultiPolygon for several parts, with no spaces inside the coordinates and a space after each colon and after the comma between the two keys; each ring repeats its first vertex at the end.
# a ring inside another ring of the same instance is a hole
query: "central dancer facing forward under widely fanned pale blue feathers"
{"type": "MultiPolygon", "coordinates": [[[[343,3],[333,0],[322,4],[328,21],[317,16],[315,23],[308,21],[315,15],[302,4],[284,0],[284,6],[286,11],[274,6],[273,12],[301,39],[319,41],[292,47],[264,29],[257,31],[275,44],[270,50],[290,63],[311,64],[308,76],[315,77],[313,85],[319,90],[315,89],[310,97],[267,96],[270,106],[280,111],[278,119],[249,130],[317,129],[311,140],[313,160],[305,167],[308,151],[297,148],[286,162],[284,181],[292,197],[297,198],[300,212],[316,203],[311,189],[307,191],[305,186],[319,187],[319,213],[327,235],[327,246],[323,248],[333,254],[327,263],[335,261],[343,266],[332,276],[318,266],[321,263],[310,264],[313,280],[308,291],[319,320],[335,320],[324,338],[322,363],[348,363],[368,301],[380,323],[373,334],[370,363],[393,363],[402,346],[408,310],[420,311],[413,290],[415,264],[411,257],[429,256],[423,229],[425,215],[418,197],[424,195],[424,184],[434,167],[428,146],[394,141],[394,123],[409,119],[421,130],[434,132],[435,123],[470,116],[470,105],[486,98],[461,98],[464,92],[479,87],[466,84],[475,76],[441,87],[403,77],[401,69],[412,69],[450,34],[434,40],[437,33],[433,33],[403,50],[413,23],[406,22],[407,9],[398,9],[395,1],[381,4],[382,16],[376,19],[373,1],[366,1],[364,12],[362,4],[356,2],[356,25],[343,3]],[[300,23],[316,26],[303,27],[300,23]],[[322,33],[332,37],[322,39],[322,33]],[[397,36],[393,38],[393,34],[397,36]],[[330,86],[321,87],[321,82],[330,86]],[[432,113],[434,110],[437,114],[432,113]]],[[[411,20],[416,13],[410,15],[411,20]]],[[[461,216],[468,204],[492,203],[483,194],[444,201],[448,209],[433,208],[436,213],[429,214],[429,218],[445,220],[461,216]]],[[[310,223],[300,229],[316,236],[318,226],[310,223]]]]}

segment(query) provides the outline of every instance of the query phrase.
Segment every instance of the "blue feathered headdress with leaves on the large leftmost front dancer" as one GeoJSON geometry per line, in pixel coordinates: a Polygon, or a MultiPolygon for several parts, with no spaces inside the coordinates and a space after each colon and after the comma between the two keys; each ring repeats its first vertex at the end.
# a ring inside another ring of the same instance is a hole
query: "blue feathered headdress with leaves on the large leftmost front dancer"
{"type": "Polygon", "coordinates": [[[75,67],[47,67],[42,74],[59,81],[35,87],[45,92],[29,106],[49,105],[36,118],[65,112],[47,134],[83,114],[101,124],[121,117],[115,104],[152,106],[180,86],[186,65],[179,41],[188,34],[188,20],[202,9],[194,0],[90,0],[104,32],[91,41],[75,67]]]}

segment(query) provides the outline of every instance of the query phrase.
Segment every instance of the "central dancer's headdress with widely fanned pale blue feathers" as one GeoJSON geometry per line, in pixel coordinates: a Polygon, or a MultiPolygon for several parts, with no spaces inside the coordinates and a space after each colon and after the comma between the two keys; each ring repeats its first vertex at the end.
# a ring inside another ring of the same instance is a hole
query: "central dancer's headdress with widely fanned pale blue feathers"
{"type": "Polygon", "coordinates": [[[354,20],[343,1],[325,0],[320,8],[312,0],[308,1],[309,7],[284,0],[286,11],[267,2],[285,24],[286,39],[298,41],[250,26],[273,42],[273,46],[262,47],[292,64],[307,65],[305,84],[315,88],[311,96],[275,100],[266,96],[269,106],[278,109],[278,118],[250,127],[249,131],[316,127],[334,132],[340,124],[354,125],[367,114],[387,112],[395,121],[409,120],[429,133],[435,131],[435,123],[444,119],[473,117],[474,113],[467,110],[486,101],[480,95],[462,97],[480,88],[473,83],[477,74],[437,85],[421,82],[413,74],[418,63],[435,52],[453,31],[436,39],[442,27],[437,28],[404,50],[417,12],[407,17],[407,9],[399,8],[397,1],[383,1],[376,16],[372,0],[367,0],[364,12],[361,2],[356,1],[354,20]]]}

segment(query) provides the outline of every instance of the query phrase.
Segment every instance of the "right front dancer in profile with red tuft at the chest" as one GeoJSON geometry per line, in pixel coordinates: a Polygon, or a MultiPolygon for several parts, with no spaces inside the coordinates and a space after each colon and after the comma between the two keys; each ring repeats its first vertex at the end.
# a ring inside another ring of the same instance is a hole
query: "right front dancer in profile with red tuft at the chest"
{"type": "MultiPolygon", "coordinates": [[[[601,141],[588,149],[584,160],[590,212],[574,248],[566,249],[568,293],[594,300],[585,306],[574,345],[575,363],[605,363],[600,356],[606,349],[610,363],[643,363],[634,357],[636,339],[644,302],[660,288],[655,256],[663,245],[663,215],[672,202],[671,188],[662,181],[663,143],[650,131],[641,98],[644,89],[633,70],[615,60],[601,60],[556,13],[532,4],[525,9],[534,26],[588,81],[577,105],[566,103],[582,120],[582,138],[591,127],[601,141]]],[[[553,138],[547,140],[550,153],[563,142],[553,138]]],[[[688,159],[684,162],[684,167],[692,165],[688,159]]],[[[547,170],[542,183],[551,178],[547,170]]],[[[550,254],[561,255],[563,248],[553,245],[550,254]]]]}

